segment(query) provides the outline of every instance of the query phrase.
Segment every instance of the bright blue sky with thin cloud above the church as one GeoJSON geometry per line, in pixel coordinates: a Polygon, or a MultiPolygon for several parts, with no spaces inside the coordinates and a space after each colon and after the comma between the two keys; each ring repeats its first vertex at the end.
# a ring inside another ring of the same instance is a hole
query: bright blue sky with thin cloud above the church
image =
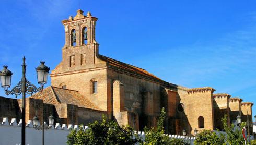
{"type": "Polygon", "coordinates": [[[61,61],[61,20],[83,9],[99,18],[100,54],[171,83],[210,86],[256,103],[256,1],[120,2],[1,1],[0,65],[14,72],[12,85],[21,78],[24,55],[35,84],[39,61],[51,69],[61,61]]]}

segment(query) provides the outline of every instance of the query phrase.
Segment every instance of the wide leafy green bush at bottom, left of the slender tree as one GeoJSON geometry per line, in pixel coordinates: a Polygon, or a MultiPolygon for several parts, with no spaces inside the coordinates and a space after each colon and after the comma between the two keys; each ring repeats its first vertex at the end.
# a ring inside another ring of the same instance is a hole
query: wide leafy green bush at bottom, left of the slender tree
{"type": "Polygon", "coordinates": [[[133,129],[130,126],[120,127],[117,122],[108,122],[106,117],[102,121],[95,121],[88,125],[87,130],[79,128],[72,130],[67,136],[67,144],[135,144],[138,136],[133,138],[133,129]]]}

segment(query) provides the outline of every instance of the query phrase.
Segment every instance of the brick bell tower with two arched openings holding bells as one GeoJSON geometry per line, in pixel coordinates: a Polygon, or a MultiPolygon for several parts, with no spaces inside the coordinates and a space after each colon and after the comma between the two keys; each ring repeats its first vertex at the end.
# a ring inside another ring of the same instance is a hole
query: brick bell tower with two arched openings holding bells
{"type": "Polygon", "coordinates": [[[62,48],[62,62],[52,71],[65,73],[96,67],[103,63],[99,58],[99,44],[95,40],[95,26],[98,18],[78,9],[75,17],[63,20],[65,44],[62,48]]]}

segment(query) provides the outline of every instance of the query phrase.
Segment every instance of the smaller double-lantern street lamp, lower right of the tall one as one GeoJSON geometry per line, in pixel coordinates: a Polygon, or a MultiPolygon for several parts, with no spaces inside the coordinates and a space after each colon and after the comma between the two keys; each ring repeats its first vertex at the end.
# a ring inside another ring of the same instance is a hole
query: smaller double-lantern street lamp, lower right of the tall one
{"type": "MultiPolygon", "coordinates": [[[[43,114],[44,115],[44,114],[43,114]]],[[[42,116],[43,116],[42,115],[42,116]]],[[[48,117],[49,119],[49,126],[44,126],[44,119],[43,119],[43,124],[42,126],[39,126],[39,119],[37,116],[34,116],[33,118],[33,126],[36,130],[42,130],[42,145],[44,145],[44,129],[49,129],[51,128],[51,126],[53,125],[54,123],[54,117],[51,115],[48,117]]]]}

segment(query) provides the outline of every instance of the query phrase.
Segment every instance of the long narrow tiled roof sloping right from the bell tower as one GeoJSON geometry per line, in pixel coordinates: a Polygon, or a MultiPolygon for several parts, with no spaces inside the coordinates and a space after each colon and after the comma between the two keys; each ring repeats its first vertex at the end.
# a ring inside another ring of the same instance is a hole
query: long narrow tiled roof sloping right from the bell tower
{"type": "Polygon", "coordinates": [[[99,55],[99,58],[102,59],[103,61],[106,61],[109,65],[117,67],[118,69],[124,69],[126,71],[129,71],[130,73],[134,73],[134,74],[137,74],[137,75],[141,75],[141,76],[144,76],[144,77],[148,77],[148,78],[151,78],[151,79],[154,79],[154,80],[158,80],[158,81],[167,83],[164,80],[161,80],[160,78],[156,77],[155,75],[150,74],[145,69],[142,69],[142,68],[130,65],[130,64],[126,64],[126,63],[117,61],[115,59],[112,59],[112,58],[109,58],[109,57],[106,57],[106,56],[103,56],[103,55],[99,55]]]}

